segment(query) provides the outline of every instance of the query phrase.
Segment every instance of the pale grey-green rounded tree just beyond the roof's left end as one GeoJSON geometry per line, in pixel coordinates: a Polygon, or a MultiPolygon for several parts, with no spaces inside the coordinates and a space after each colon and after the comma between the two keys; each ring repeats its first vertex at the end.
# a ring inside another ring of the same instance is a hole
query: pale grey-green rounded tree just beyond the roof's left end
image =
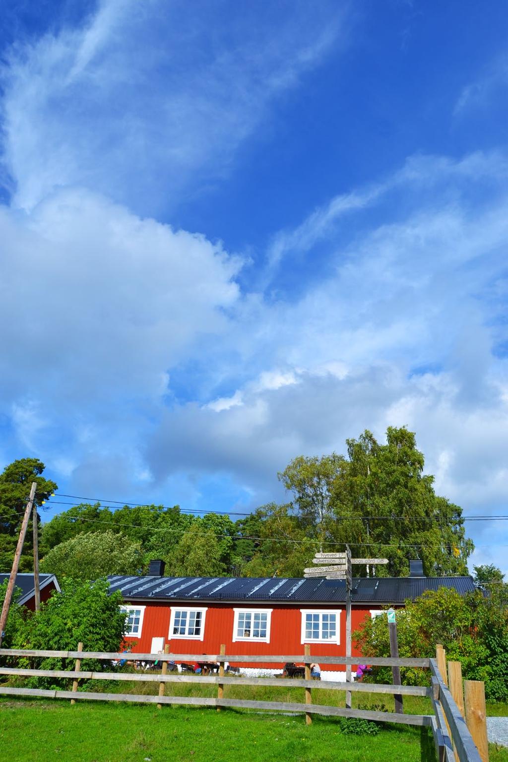
{"type": "Polygon", "coordinates": [[[78,534],[47,553],[41,571],[57,578],[97,579],[112,574],[138,574],[143,553],[139,543],[111,531],[78,534]]]}

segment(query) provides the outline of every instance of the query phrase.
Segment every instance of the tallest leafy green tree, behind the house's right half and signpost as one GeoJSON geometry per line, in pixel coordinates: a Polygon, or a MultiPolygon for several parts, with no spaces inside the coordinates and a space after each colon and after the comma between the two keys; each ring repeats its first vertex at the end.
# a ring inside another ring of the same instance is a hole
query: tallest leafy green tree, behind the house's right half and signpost
{"type": "Polygon", "coordinates": [[[323,549],[348,543],[353,555],[387,557],[378,575],[407,575],[414,558],[427,575],[467,574],[474,545],[465,538],[462,510],[435,494],[423,467],[414,433],[388,427],[386,444],[365,431],[347,440],[347,458],[299,457],[280,479],[293,493],[296,526],[323,549]]]}

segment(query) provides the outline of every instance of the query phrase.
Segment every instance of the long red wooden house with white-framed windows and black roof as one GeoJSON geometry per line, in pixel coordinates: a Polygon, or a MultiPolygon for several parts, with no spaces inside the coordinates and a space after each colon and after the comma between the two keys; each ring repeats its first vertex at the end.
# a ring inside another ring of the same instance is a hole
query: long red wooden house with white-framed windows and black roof
{"type": "MultiPolygon", "coordinates": [[[[283,656],[303,654],[308,643],[311,655],[345,655],[343,581],[163,574],[164,562],[152,561],[147,576],[109,578],[111,591],[123,594],[129,615],[126,642],[133,653],[158,653],[168,643],[173,653],[217,654],[225,644],[227,654],[283,656]]],[[[414,562],[411,577],[354,579],[352,629],[382,607],[404,606],[407,598],[440,587],[465,594],[474,583],[471,577],[424,577],[421,562],[414,562]]],[[[277,671],[274,666],[241,664],[271,672],[277,671]]],[[[327,674],[321,677],[337,677],[336,669],[324,666],[327,674]]]]}

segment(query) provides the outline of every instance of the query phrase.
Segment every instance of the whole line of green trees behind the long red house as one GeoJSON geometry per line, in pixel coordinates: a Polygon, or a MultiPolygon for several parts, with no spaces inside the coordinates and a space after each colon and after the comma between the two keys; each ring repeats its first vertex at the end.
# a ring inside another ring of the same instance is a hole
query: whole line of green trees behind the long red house
{"type": "MultiPolygon", "coordinates": [[[[462,509],[436,495],[433,476],[423,472],[423,453],[417,449],[414,433],[389,427],[386,443],[365,431],[346,444],[344,455],[292,460],[279,474],[289,502],[264,505],[236,522],[214,513],[185,514],[177,505],[126,505],[117,510],[98,503],[70,507],[43,524],[43,568],[60,570],[69,563],[72,571],[68,573],[75,574],[68,549],[76,553],[78,546],[91,549],[94,543],[98,556],[104,557],[97,544],[97,533],[101,533],[123,537],[125,548],[138,543],[141,555],[140,560],[136,557],[136,568],[142,571],[150,559],[165,559],[167,574],[300,576],[316,550],[340,551],[346,543],[353,555],[388,558],[388,566],[356,567],[359,576],[404,576],[410,559],[421,559],[426,575],[467,573],[473,543],[465,537],[462,509]],[[85,539],[87,535],[94,539],[85,539]],[[67,544],[72,539],[77,544],[67,544]]],[[[27,483],[37,475],[38,501],[56,488],[40,476],[42,469],[40,461],[25,459],[8,466],[0,476],[0,485],[2,479],[8,485],[0,508],[5,517],[2,532],[11,543],[4,546],[8,547],[6,568],[10,568],[27,483]]],[[[108,542],[113,540],[104,539],[104,548],[108,542]]],[[[1,543],[0,534],[0,561],[1,543]]],[[[106,573],[112,564],[113,560],[109,565],[87,563],[81,575],[106,573]]],[[[124,563],[122,568],[133,566],[124,563]]]]}

